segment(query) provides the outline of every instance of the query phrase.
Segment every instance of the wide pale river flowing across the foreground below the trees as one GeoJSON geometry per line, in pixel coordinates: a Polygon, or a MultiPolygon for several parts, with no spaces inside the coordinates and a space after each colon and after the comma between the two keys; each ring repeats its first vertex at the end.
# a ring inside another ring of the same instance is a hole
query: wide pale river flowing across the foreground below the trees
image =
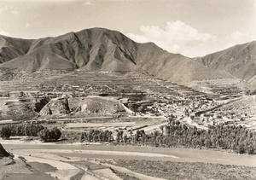
{"type": "Polygon", "coordinates": [[[256,166],[256,155],[249,154],[230,154],[212,150],[200,150],[192,148],[154,148],[154,147],[136,147],[136,146],[109,146],[109,145],[62,145],[62,144],[3,144],[7,150],[18,149],[70,149],[70,150],[90,150],[93,151],[119,151],[119,152],[139,152],[151,154],[166,154],[178,157],[146,157],[115,154],[73,154],[73,153],[51,153],[67,156],[79,156],[88,158],[102,159],[125,159],[125,160],[172,160],[180,162],[205,162],[219,163],[224,165],[248,165],[256,166]]]}

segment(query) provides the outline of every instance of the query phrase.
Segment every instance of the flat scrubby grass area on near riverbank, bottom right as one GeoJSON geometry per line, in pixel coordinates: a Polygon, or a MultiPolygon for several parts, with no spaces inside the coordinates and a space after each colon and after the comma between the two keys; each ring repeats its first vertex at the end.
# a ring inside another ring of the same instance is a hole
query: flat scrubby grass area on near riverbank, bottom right
{"type": "Polygon", "coordinates": [[[255,179],[256,167],[201,162],[114,160],[119,165],[152,177],[166,179],[255,179]]]}

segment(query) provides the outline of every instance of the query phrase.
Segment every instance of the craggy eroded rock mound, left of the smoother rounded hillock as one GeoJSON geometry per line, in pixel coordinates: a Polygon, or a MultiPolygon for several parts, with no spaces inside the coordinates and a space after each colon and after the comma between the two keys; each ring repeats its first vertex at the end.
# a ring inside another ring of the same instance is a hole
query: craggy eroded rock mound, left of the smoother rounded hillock
{"type": "Polygon", "coordinates": [[[40,111],[41,116],[46,115],[63,115],[70,113],[67,99],[55,98],[50,100],[40,111]]]}

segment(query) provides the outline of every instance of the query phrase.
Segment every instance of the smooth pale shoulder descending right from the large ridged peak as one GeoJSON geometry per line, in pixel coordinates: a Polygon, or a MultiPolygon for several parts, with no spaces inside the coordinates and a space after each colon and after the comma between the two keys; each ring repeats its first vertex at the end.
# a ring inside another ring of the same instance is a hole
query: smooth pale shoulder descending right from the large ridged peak
{"type": "Polygon", "coordinates": [[[140,44],[137,65],[148,73],[176,83],[187,83],[196,79],[234,78],[229,73],[213,70],[179,54],[160,49],[153,43],[140,44]]]}

